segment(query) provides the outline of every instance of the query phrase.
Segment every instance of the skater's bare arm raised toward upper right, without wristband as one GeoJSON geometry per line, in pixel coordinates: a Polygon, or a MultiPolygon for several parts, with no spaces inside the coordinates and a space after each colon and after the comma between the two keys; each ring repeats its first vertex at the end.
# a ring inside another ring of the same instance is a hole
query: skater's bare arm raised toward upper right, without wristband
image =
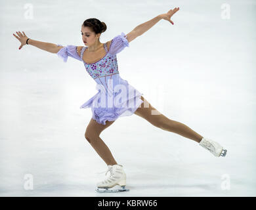
{"type": "Polygon", "coordinates": [[[171,16],[173,16],[173,14],[175,14],[175,12],[177,12],[177,11],[179,11],[179,7],[175,7],[175,9],[171,9],[165,14],[159,14],[155,18],[148,20],[147,22],[144,22],[143,24],[140,24],[139,26],[134,28],[130,33],[127,33],[127,40],[129,42],[133,41],[133,39],[135,39],[139,35],[142,35],[146,31],[148,31],[150,28],[152,28],[152,26],[154,26],[161,19],[167,20],[167,21],[171,22],[171,24],[173,24],[173,21],[171,20],[171,16]]]}

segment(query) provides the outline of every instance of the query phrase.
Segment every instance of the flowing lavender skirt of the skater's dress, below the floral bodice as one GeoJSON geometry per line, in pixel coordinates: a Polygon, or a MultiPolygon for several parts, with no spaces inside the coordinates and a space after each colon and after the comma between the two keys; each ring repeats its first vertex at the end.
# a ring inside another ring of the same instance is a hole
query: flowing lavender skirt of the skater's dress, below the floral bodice
{"type": "Polygon", "coordinates": [[[140,98],[143,94],[119,74],[114,75],[112,81],[112,86],[97,84],[98,93],[80,106],[91,108],[93,119],[102,125],[106,125],[106,121],[115,121],[118,117],[131,116],[143,102],[140,98]]]}

